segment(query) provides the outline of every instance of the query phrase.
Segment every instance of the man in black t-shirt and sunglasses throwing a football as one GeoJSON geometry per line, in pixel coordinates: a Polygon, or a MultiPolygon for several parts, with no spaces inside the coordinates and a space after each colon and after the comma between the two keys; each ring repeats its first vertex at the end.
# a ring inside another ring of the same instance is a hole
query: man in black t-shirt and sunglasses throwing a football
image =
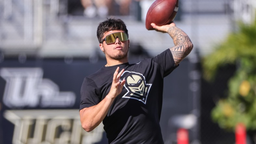
{"type": "Polygon", "coordinates": [[[129,35],[121,19],[109,18],[97,28],[107,64],[84,78],[80,119],[92,131],[102,121],[109,143],[162,144],[160,114],[163,78],[190,53],[193,44],[174,23],[152,27],[167,32],[174,47],[137,64],[128,63],[129,35]]]}

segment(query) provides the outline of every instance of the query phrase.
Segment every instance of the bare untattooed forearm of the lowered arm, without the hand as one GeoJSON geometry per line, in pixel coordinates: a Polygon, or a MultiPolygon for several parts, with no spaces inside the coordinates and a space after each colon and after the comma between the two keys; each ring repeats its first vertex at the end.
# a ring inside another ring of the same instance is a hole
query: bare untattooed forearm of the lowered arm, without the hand
{"type": "Polygon", "coordinates": [[[97,105],[80,110],[80,120],[85,131],[90,132],[96,128],[107,115],[114,98],[108,95],[97,105]]]}

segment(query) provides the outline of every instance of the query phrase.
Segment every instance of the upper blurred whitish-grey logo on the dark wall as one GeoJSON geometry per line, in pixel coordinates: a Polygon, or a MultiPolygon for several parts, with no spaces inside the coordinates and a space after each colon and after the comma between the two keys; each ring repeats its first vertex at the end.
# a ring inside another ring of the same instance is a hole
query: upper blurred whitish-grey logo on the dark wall
{"type": "Polygon", "coordinates": [[[0,76],[6,86],[3,102],[9,108],[20,107],[72,107],[75,94],[59,91],[51,79],[43,78],[42,68],[1,68],[0,76]]]}

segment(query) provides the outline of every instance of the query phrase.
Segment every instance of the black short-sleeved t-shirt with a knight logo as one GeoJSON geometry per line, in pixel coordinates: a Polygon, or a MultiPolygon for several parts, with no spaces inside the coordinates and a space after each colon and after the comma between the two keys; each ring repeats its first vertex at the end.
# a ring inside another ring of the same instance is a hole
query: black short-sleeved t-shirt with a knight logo
{"type": "Polygon", "coordinates": [[[80,110],[98,104],[109,93],[117,67],[124,72],[122,92],[115,98],[103,120],[109,143],[161,144],[160,128],[163,78],[177,66],[170,49],[137,64],[103,66],[84,78],[80,110]]]}

